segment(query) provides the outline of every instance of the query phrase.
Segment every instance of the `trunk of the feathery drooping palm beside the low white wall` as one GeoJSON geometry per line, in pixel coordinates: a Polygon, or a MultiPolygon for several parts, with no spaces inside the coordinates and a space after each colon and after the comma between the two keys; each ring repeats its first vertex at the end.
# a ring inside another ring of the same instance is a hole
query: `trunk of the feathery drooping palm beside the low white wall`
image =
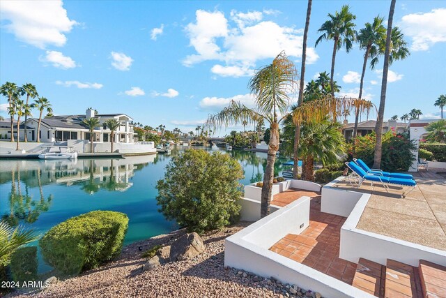
{"type": "Polygon", "coordinates": [[[268,158],[266,159],[266,169],[263,174],[263,187],[261,193],[260,217],[270,214],[270,202],[272,191],[272,180],[274,179],[274,163],[276,153],[279,149],[279,125],[272,123],[270,127],[270,142],[268,144],[268,158]]]}

